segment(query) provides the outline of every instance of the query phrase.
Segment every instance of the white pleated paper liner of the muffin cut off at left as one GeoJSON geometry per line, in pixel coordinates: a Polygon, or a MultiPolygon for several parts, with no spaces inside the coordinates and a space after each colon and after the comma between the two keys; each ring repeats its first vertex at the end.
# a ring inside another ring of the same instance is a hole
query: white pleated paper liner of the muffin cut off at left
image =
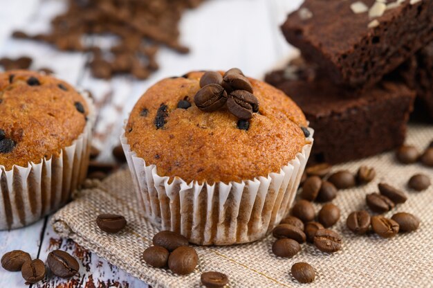
{"type": "Polygon", "coordinates": [[[88,94],[81,95],[89,115],[84,132],[72,145],[59,156],[29,162],[27,167],[6,170],[0,165],[0,230],[26,226],[57,210],[86,178],[95,113],[88,94]]]}

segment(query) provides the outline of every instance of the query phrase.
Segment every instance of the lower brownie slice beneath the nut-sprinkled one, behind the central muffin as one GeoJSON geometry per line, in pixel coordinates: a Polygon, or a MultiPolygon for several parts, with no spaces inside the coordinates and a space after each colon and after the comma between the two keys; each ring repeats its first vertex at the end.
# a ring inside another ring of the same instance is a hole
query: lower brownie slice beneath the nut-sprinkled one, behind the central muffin
{"type": "Polygon", "coordinates": [[[315,129],[311,163],[340,163],[391,150],[405,141],[414,91],[380,82],[357,95],[320,75],[299,59],[266,75],[301,107],[315,129]]]}

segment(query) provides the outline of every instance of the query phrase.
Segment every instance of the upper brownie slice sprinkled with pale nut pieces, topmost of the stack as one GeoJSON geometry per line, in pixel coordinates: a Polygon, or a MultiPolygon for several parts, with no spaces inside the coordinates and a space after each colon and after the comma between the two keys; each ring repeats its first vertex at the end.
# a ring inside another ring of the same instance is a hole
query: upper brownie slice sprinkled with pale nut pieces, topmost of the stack
{"type": "Polygon", "coordinates": [[[305,0],[282,31],[336,84],[370,87],[433,39],[431,0],[305,0]]]}

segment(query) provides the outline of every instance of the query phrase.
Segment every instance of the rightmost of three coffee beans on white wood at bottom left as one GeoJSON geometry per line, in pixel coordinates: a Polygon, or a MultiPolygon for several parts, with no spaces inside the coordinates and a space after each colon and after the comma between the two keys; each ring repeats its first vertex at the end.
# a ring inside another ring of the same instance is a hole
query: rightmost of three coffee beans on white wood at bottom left
{"type": "Polygon", "coordinates": [[[71,278],[78,270],[80,270],[80,264],[73,256],[62,250],[51,251],[46,259],[48,266],[55,276],[61,278],[71,278]]]}

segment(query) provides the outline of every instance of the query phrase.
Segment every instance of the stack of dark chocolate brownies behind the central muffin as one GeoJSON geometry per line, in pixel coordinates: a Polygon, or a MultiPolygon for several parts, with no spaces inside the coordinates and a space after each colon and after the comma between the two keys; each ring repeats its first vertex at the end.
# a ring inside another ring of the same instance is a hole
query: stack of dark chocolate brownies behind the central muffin
{"type": "Polygon", "coordinates": [[[432,0],[305,0],[282,25],[302,57],[266,75],[315,129],[310,161],[402,145],[414,100],[433,118],[432,0]]]}

